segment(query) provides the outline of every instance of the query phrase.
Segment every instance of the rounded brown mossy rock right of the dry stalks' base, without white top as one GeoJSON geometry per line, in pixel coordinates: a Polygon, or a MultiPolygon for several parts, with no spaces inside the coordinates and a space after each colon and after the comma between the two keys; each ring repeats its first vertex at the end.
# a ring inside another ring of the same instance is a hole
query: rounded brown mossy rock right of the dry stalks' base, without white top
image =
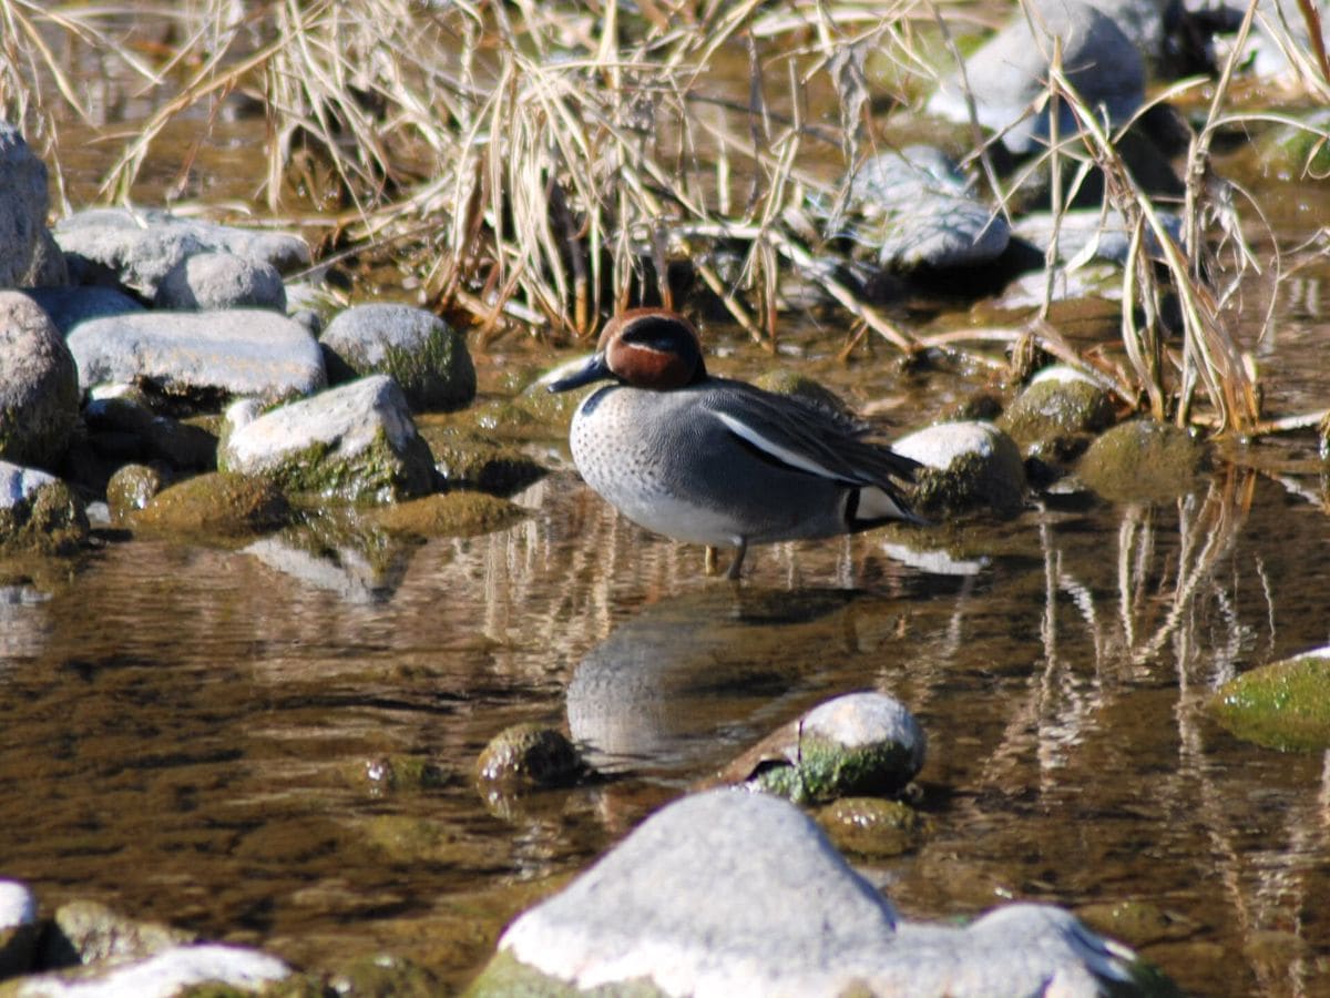
{"type": "Polygon", "coordinates": [[[1105,499],[1129,502],[1186,495],[1205,464],[1205,448],[1185,430],[1130,419],[1096,439],[1076,472],[1105,499]]]}

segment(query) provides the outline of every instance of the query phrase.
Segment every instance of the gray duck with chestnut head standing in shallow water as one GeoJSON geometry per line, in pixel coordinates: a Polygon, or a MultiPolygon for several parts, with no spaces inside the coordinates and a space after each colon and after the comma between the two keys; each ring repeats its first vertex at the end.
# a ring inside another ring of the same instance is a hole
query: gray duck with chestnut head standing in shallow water
{"type": "Polygon", "coordinates": [[[608,381],[569,430],[583,479],[624,516],[674,540],[734,548],[924,523],[906,486],[919,464],[863,439],[867,426],[826,406],[708,373],[696,327],[661,307],[626,310],[596,353],[548,385],[608,381]]]}

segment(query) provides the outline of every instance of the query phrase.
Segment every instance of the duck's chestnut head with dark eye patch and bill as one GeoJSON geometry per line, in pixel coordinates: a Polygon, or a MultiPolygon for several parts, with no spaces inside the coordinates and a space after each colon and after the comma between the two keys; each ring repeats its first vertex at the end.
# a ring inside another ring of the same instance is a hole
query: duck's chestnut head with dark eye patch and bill
{"type": "Polygon", "coordinates": [[[634,389],[672,391],[705,377],[702,343],[692,322],[665,309],[630,309],[605,323],[595,355],[549,390],[614,378],[634,389]]]}

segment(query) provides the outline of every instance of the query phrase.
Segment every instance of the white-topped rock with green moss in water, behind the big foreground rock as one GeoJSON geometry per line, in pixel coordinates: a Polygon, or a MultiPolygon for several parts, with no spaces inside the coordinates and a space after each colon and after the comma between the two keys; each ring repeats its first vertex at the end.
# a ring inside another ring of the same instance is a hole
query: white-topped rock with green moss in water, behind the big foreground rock
{"type": "Polygon", "coordinates": [[[891,794],[923,766],[926,745],[923,729],[899,700],[847,693],[763,739],[726,777],[795,804],[891,794]]]}

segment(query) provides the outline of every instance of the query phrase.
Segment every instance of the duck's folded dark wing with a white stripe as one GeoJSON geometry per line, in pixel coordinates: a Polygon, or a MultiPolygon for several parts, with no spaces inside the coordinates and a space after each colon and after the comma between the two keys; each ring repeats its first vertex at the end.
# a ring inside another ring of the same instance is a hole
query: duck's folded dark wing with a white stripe
{"type": "Polygon", "coordinates": [[[861,439],[862,427],[830,410],[743,382],[712,379],[706,409],[765,458],[849,486],[895,492],[892,479],[914,480],[919,463],[861,439]]]}

